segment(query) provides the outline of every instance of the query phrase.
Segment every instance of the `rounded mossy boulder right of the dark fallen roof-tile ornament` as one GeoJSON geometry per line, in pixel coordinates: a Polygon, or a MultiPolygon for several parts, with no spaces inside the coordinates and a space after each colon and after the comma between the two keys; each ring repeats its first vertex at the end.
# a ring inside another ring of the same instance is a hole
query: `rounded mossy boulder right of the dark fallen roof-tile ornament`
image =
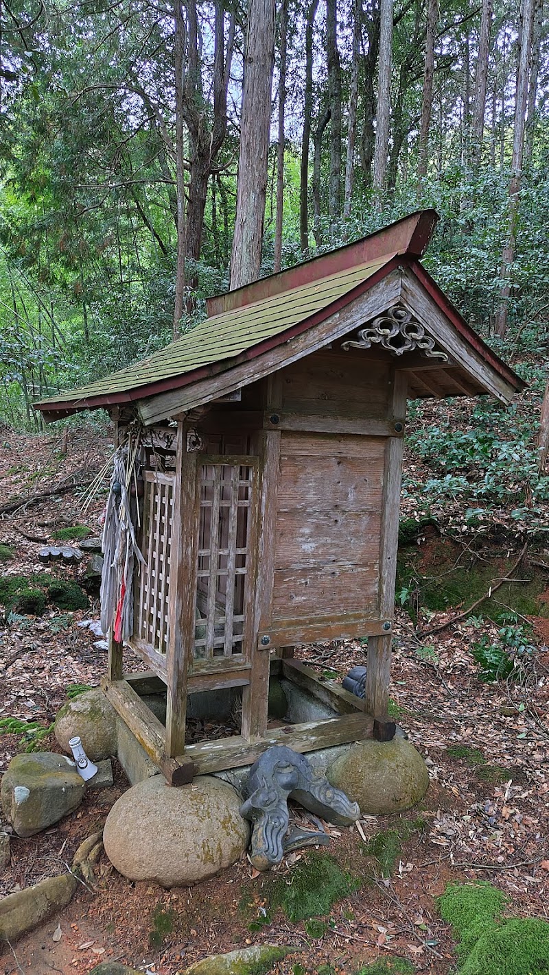
{"type": "Polygon", "coordinates": [[[353,745],[333,761],[326,775],[369,816],[410,809],[423,799],[429,785],[425,762],[400,735],[392,741],[353,745]]]}

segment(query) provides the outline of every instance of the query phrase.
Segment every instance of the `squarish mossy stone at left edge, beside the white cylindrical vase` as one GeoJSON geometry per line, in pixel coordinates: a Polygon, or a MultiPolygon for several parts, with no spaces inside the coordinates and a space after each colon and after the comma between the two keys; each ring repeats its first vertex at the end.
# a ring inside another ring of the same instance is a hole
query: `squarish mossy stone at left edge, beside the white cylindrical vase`
{"type": "Polygon", "coordinates": [[[85,792],[74,761],[55,752],[16,755],[1,789],[4,812],[20,837],[57,823],[80,805],[85,792]]]}

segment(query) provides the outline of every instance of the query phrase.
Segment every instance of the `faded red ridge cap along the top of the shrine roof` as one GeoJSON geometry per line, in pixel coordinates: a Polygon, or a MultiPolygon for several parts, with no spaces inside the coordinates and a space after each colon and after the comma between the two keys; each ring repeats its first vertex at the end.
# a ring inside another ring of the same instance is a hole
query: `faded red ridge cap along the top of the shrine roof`
{"type": "Polygon", "coordinates": [[[438,219],[439,215],[435,210],[418,210],[376,230],[362,240],[345,244],[328,254],[311,257],[310,260],[279,271],[278,274],[271,274],[250,285],[237,288],[234,292],[216,294],[206,299],[208,317],[212,318],[222,312],[243,308],[262,298],[312,284],[320,278],[375,260],[384,254],[421,257],[433,236],[438,219]]]}

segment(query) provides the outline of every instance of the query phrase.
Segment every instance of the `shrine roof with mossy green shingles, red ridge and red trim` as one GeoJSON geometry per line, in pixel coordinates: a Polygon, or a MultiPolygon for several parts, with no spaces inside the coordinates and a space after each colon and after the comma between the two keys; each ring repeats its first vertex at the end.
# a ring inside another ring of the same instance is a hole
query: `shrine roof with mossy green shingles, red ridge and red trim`
{"type": "MultiPolygon", "coordinates": [[[[80,389],[60,393],[35,407],[47,420],[55,420],[80,409],[109,408],[137,401],[143,418],[142,409],[147,409],[143,401],[152,403],[155,398],[159,401],[166,399],[173,391],[183,386],[192,388],[193,384],[197,390],[200,387],[206,391],[202,397],[205,402],[208,392],[204,383],[209,377],[233,370],[236,378],[238,367],[243,363],[252,366],[251,360],[256,361],[260,372],[261,359],[269,350],[275,347],[291,350],[292,341],[297,336],[304,336],[308,331],[312,335],[319,323],[331,318],[335,320],[342,309],[352,306],[361,295],[390,279],[391,275],[405,273],[405,269],[406,273],[413,274],[415,281],[421,282],[421,287],[449,317],[451,327],[460,333],[461,341],[465,340],[471,346],[476,359],[500,373],[506,389],[524,388],[522,380],[467,326],[419,264],[418,258],[431,238],[437,219],[434,211],[412,214],[361,241],[235,292],[210,298],[209,317],[166,348],[134,366],[80,389]]],[[[306,349],[301,354],[306,354],[306,349]]],[[[281,368],[284,355],[278,356],[277,363],[266,371],[281,368]]],[[[262,374],[266,374],[265,370],[262,374]]],[[[244,382],[252,381],[250,376],[253,375],[254,368],[247,370],[244,382]]],[[[481,382],[477,391],[494,390],[490,384],[483,386],[481,382]]],[[[510,397],[504,393],[501,398],[507,400],[510,397]]],[[[185,409],[186,403],[192,401],[192,395],[183,397],[181,408],[185,409]]],[[[153,409],[150,415],[153,414],[156,415],[157,410],[153,409]]]]}

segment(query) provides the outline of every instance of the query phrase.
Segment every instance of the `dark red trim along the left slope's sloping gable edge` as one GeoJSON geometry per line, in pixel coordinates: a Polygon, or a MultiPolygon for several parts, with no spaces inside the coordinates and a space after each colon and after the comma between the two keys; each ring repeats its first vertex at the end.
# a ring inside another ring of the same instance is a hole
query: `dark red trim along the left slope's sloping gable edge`
{"type": "Polygon", "coordinates": [[[345,292],[330,305],[319,309],[313,315],[309,315],[308,318],[302,319],[292,328],[286,331],[280,331],[276,335],[271,336],[271,338],[266,338],[262,342],[258,342],[256,345],[252,345],[249,349],[241,352],[240,355],[234,356],[232,359],[223,359],[218,363],[212,363],[209,366],[201,366],[200,369],[192,370],[191,372],[184,372],[181,375],[170,376],[166,379],[160,379],[156,382],[149,383],[148,385],[137,386],[135,389],[122,390],[118,393],[102,393],[98,396],[91,397],[78,397],[74,400],[59,400],[58,403],[54,403],[51,400],[46,400],[42,403],[33,403],[34,409],[40,409],[44,413],[54,413],[59,414],[62,411],[74,410],[74,409],[98,409],[99,407],[113,407],[122,405],[125,403],[133,403],[136,400],[145,400],[152,396],[159,396],[161,393],[168,393],[173,389],[181,389],[184,386],[189,386],[193,382],[198,382],[200,379],[205,379],[213,375],[217,375],[219,372],[225,372],[232,369],[234,366],[239,366],[241,363],[249,362],[251,359],[256,359],[258,356],[262,355],[263,352],[268,352],[270,349],[275,348],[277,345],[282,345],[288,342],[291,338],[296,335],[300,335],[303,331],[311,329],[314,325],[318,325],[319,322],[323,322],[325,318],[333,315],[340,308],[343,308],[349,301],[353,298],[358,297],[360,294],[369,291],[376,285],[382,278],[386,277],[391,271],[402,263],[402,256],[399,254],[388,255],[385,264],[381,264],[380,267],[365,281],[362,281],[359,285],[356,285],[349,292],[345,292]]]}

